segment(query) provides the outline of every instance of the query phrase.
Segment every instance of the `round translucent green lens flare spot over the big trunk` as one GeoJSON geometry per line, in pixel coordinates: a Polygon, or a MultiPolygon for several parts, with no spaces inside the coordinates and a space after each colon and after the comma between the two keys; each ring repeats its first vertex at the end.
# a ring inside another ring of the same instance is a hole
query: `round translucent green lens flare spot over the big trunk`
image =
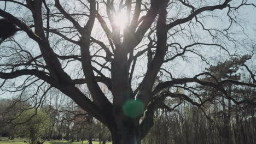
{"type": "Polygon", "coordinates": [[[123,105],[123,112],[126,116],[135,118],[144,111],[144,104],[141,100],[127,100],[123,105]]]}

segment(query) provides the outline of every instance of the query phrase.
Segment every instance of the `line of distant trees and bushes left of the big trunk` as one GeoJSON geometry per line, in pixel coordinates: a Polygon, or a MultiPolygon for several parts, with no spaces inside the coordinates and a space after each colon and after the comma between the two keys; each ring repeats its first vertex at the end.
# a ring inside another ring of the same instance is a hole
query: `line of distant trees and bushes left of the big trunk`
{"type": "MultiPolygon", "coordinates": [[[[9,139],[15,139],[15,137],[30,139],[30,135],[25,134],[24,131],[29,129],[32,123],[43,123],[40,126],[41,128],[35,125],[32,129],[33,131],[39,131],[35,137],[42,139],[42,142],[45,140],[67,140],[71,142],[88,140],[91,143],[92,140],[97,139],[100,143],[106,143],[107,140],[111,140],[107,127],[80,109],[70,99],[68,101],[55,101],[55,105],[45,103],[37,108],[31,108],[31,105],[33,104],[29,101],[1,99],[0,136],[9,137],[9,139]],[[58,104],[60,102],[61,104],[58,104]],[[43,115],[41,111],[44,113],[43,115]],[[30,118],[36,119],[28,121],[30,118]],[[45,129],[42,129],[42,127],[45,127],[45,129]]],[[[30,133],[30,131],[27,133],[30,133]]]]}

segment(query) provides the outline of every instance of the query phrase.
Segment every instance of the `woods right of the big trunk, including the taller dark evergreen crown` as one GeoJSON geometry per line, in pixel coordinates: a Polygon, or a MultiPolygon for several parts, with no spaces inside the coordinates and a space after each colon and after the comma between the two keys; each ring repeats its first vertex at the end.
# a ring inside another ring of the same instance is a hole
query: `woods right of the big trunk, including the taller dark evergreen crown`
{"type": "MultiPolygon", "coordinates": [[[[207,70],[213,74],[204,79],[241,80],[240,65],[248,58],[230,59],[211,65],[207,70]]],[[[197,89],[197,90],[195,90],[197,89]]],[[[256,91],[255,88],[242,88],[228,83],[226,94],[216,92],[209,87],[195,87],[201,91],[201,101],[212,99],[203,106],[196,103],[183,103],[178,109],[162,109],[156,112],[154,127],[150,130],[144,143],[248,143],[256,142],[256,91]],[[225,97],[223,97],[225,95],[225,97]],[[229,98],[245,101],[235,104],[229,98]],[[172,111],[172,112],[168,112],[172,111]]],[[[177,87],[176,93],[185,93],[177,87]]],[[[199,95],[194,95],[194,97],[199,95]]],[[[169,105],[173,100],[169,100],[169,105]]]]}

